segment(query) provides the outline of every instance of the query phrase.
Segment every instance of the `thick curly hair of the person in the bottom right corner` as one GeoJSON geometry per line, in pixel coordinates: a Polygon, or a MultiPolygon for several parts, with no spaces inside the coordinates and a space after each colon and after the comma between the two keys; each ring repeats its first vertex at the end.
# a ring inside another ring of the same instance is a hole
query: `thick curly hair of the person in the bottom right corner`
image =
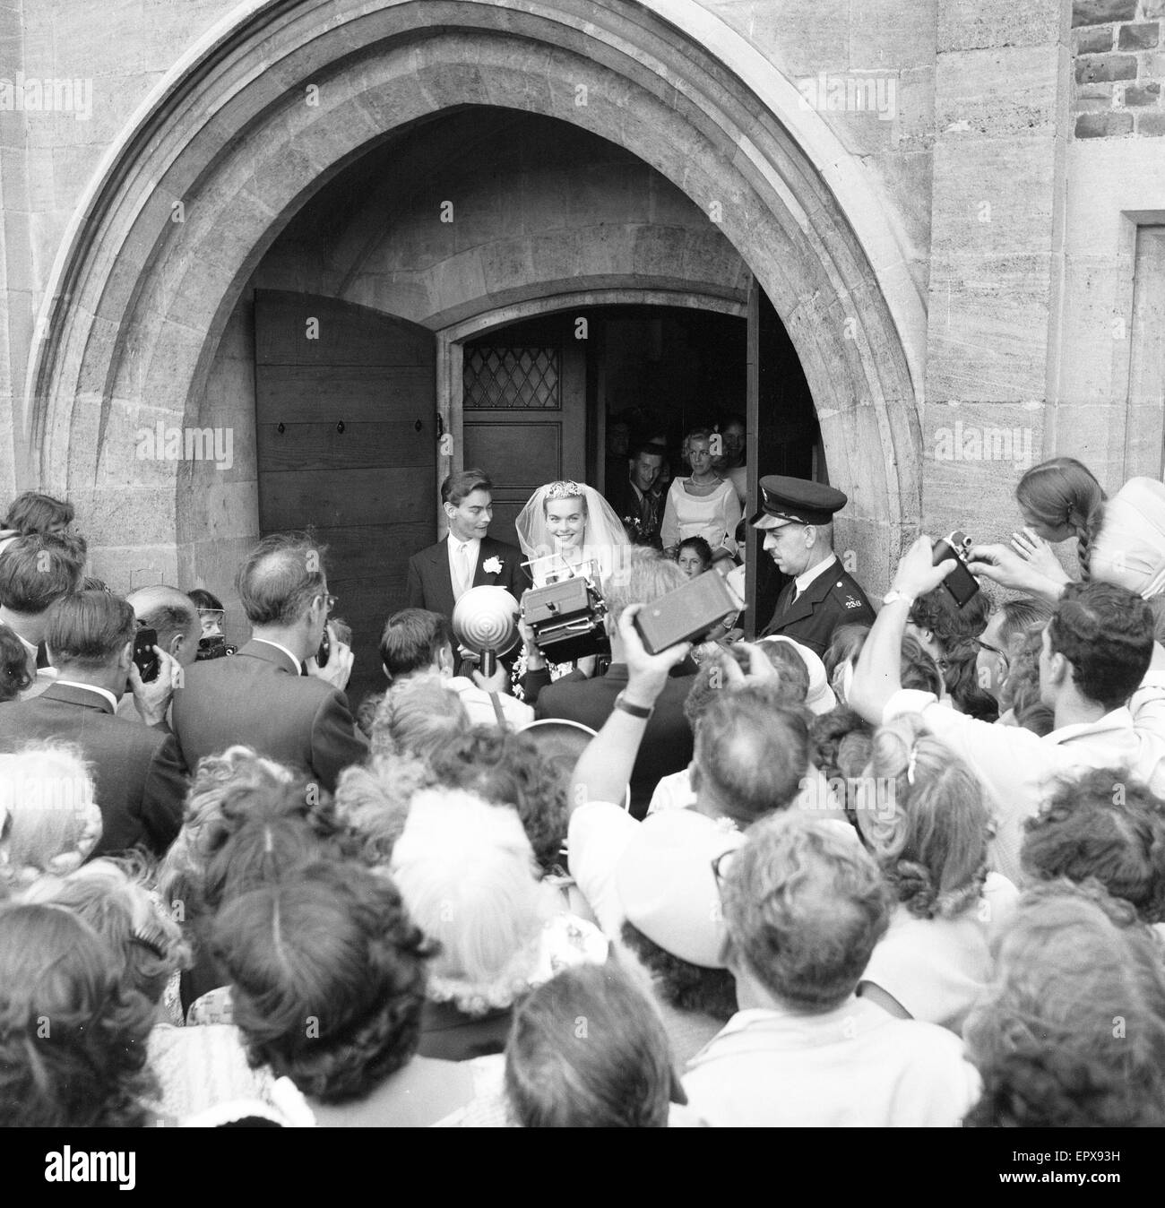
{"type": "Polygon", "coordinates": [[[1165,1126],[1165,970],[1128,904],[1030,889],[963,1036],[983,1076],[970,1127],[1165,1126]]]}

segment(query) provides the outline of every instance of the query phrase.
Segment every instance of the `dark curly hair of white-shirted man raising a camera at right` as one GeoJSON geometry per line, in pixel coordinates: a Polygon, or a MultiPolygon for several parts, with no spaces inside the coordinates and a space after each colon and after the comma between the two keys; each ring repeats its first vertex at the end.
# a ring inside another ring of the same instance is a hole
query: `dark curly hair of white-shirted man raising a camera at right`
{"type": "Polygon", "coordinates": [[[1048,622],[1050,651],[1072,664],[1089,701],[1119,709],[1137,690],[1153,657],[1153,612],[1114,583],[1068,583],[1048,622]]]}

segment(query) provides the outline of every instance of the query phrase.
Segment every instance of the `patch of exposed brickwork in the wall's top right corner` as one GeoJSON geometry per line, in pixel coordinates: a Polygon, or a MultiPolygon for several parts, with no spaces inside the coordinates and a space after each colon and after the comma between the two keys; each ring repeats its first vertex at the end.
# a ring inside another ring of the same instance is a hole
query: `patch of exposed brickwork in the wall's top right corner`
{"type": "Polygon", "coordinates": [[[1165,0],[1073,0],[1078,139],[1165,135],[1165,0]]]}

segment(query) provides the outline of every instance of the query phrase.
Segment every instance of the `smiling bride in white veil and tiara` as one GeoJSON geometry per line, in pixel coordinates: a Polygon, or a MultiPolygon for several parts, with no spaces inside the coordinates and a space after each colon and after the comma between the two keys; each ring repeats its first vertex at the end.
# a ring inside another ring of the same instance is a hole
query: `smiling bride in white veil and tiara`
{"type": "Polygon", "coordinates": [[[531,562],[535,587],[570,579],[598,564],[609,575],[630,548],[615,510],[581,482],[547,482],[531,496],[515,521],[522,553],[531,562]]]}

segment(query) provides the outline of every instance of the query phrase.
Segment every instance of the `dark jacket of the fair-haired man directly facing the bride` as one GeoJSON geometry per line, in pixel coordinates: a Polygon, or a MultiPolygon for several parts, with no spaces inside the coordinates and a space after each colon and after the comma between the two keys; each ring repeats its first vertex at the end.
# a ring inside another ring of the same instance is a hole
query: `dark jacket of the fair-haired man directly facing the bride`
{"type": "MultiPolygon", "coordinates": [[[[531,673],[532,675],[534,673],[531,673]]],[[[694,675],[671,675],[655,702],[631,772],[631,813],[643,818],[660,777],[680,772],[691,762],[691,726],[684,701],[694,675]]],[[[627,686],[627,664],[612,663],[599,679],[561,679],[544,687],[534,704],[534,718],[564,718],[602,730],[615,708],[615,697],[627,686]]]]}

